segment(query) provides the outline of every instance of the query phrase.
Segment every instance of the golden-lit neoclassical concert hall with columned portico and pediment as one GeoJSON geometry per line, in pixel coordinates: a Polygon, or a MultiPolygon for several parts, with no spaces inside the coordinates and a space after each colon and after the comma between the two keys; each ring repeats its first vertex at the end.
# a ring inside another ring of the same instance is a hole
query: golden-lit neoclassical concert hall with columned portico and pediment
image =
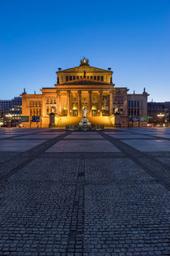
{"type": "Polygon", "coordinates": [[[126,87],[115,87],[111,68],[91,67],[84,58],[79,67],[58,68],[56,73],[54,87],[42,88],[40,94],[21,94],[22,115],[29,116],[24,128],[79,124],[84,106],[91,124],[104,127],[127,127],[133,117],[147,115],[145,90],[142,94],[128,94],[126,87]],[[40,122],[33,122],[32,116],[40,116],[40,122]]]}

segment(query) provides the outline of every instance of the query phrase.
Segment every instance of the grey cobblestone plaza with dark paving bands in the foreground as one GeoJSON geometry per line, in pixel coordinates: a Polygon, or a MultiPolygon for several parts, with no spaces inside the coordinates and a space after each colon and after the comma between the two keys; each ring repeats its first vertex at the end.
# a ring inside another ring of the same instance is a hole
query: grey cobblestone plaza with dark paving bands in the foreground
{"type": "Polygon", "coordinates": [[[170,254],[170,128],[1,128],[0,183],[0,255],[170,254]]]}

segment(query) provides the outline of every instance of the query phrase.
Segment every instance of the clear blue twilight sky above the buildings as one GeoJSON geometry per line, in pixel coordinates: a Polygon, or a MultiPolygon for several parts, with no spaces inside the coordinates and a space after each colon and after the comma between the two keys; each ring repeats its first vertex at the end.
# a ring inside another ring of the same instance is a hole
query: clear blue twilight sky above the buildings
{"type": "Polygon", "coordinates": [[[170,101],[169,46],[169,0],[0,0],[0,99],[53,87],[86,56],[117,87],[170,101]]]}

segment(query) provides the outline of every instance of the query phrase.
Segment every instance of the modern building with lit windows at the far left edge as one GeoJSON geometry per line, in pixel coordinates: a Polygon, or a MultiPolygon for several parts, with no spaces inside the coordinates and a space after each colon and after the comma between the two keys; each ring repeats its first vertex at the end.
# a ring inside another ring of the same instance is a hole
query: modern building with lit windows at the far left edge
{"type": "Polygon", "coordinates": [[[0,100],[1,121],[3,124],[19,123],[22,115],[22,98],[0,100]]]}

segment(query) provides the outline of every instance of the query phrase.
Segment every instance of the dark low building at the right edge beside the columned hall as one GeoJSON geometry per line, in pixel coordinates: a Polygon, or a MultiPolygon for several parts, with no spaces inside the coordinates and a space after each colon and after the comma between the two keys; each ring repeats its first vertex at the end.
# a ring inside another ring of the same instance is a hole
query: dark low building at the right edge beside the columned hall
{"type": "Polygon", "coordinates": [[[168,126],[170,123],[170,102],[148,102],[147,115],[150,124],[168,126]]]}

